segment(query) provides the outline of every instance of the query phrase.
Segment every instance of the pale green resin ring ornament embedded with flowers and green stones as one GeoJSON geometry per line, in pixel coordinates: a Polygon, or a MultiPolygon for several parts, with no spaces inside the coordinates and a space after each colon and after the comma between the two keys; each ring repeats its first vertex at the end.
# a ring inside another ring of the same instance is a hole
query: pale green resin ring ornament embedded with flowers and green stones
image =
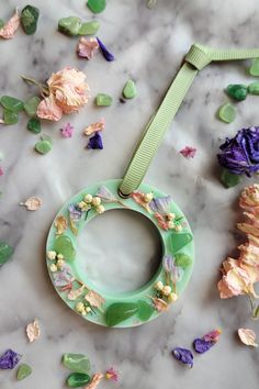
{"type": "Polygon", "coordinates": [[[48,234],[46,260],[56,291],[75,312],[100,325],[130,327],[156,319],[174,303],[191,277],[194,247],[190,225],[170,196],[142,184],[128,199],[121,199],[121,184],[122,179],[97,184],[65,203],[48,234]],[[88,223],[115,209],[145,215],[156,225],[164,252],[145,286],[120,294],[99,291],[77,255],[77,237],[88,223]]]}

